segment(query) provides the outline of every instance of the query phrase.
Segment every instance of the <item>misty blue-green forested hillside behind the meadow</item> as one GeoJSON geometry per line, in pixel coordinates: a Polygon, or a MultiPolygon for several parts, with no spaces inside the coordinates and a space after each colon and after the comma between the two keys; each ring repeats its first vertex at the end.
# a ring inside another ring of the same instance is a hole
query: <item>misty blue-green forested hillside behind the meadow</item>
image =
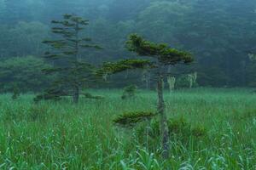
{"type": "MultiPolygon", "coordinates": [[[[124,42],[138,32],[195,54],[194,65],[172,72],[197,71],[200,86],[255,86],[256,63],[247,55],[255,53],[255,8],[253,0],[0,0],[0,57],[40,57],[47,48],[40,42],[50,37],[49,21],[74,13],[90,20],[85,36],[104,47],[87,55],[92,62],[130,57],[124,42]]],[[[134,76],[126,74],[113,77],[123,80],[115,87],[134,76]]]]}

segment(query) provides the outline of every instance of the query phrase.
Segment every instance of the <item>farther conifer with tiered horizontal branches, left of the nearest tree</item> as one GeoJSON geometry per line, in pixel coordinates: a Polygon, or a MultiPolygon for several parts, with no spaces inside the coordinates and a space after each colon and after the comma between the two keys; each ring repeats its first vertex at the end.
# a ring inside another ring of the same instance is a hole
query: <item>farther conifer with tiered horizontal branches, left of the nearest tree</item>
{"type": "MultiPolygon", "coordinates": [[[[44,95],[38,98],[58,99],[61,96],[73,96],[73,102],[79,102],[81,87],[90,81],[93,65],[84,61],[81,56],[84,48],[100,48],[90,44],[88,37],[81,37],[88,20],[75,15],[64,14],[63,20],[52,20],[53,40],[44,41],[49,45],[49,51],[45,53],[45,59],[52,63],[53,67],[44,69],[46,74],[54,74],[55,80],[44,95]]],[[[84,56],[83,56],[84,57],[84,56]]]]}

